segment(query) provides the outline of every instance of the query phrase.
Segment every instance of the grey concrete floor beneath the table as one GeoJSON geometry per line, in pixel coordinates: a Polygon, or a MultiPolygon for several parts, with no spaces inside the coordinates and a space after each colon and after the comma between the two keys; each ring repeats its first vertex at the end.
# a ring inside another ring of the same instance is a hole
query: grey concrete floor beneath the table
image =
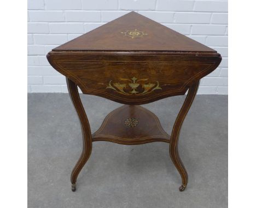
{"type": "MultiPolygon", "coordinates": [[[[171,133],[184,96],[144,107],[171,133]]],[[[82,95],[94,132],[121,106],[82,95]]],[[[68,94],[28,94],[28,207],[228,207],[228,96],[197,95],[182,126],[179,153],[189,175],[172,164],[168,144],[119,145],[95,142],[78,176],[69,177],[82,151],[82,133],[68,94]]]]}

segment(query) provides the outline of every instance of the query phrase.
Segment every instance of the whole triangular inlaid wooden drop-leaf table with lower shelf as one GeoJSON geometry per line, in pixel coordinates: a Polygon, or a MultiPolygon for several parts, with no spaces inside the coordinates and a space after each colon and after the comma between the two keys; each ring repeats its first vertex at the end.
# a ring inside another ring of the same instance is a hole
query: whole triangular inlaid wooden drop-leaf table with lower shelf
{"type": "Polygon", "coordinates": [[[179,132],[200,79],[221,62],[219,53],[132,12],[54,48],[46,57],[55,70],[66,76],[82,127],[83,151],[71,174],[72,191],[90,157],[92,141],[98,140],[129,145],[170,143],[171,159],[182,178],[179,191],[184,191],[188,174],[178,154],[179,132]],[[78,87],[83,94],[105,97],[125,106],[109,113],[100,129],[91,135],[78,87]],[[184,95],[187,90],[171,136],[153,113],[135,106],[184,95]]]}

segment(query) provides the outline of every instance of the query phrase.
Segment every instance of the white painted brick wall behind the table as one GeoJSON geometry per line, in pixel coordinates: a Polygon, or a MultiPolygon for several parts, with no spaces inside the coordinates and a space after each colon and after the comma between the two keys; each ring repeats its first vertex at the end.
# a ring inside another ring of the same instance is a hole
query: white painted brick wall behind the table
{"type": "Polygon", "coordinates": [[[199,94],[228,94],[226,0],[28,0],[28,92],[67,93],[65,77],[46,60],[51,49],[135,10],[222,54],[199,94]]]}

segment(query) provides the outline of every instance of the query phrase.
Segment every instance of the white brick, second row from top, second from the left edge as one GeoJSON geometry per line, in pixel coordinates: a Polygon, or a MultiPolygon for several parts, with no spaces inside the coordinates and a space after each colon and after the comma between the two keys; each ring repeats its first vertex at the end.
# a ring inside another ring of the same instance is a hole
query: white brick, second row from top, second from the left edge
{"type": "Polygon", "coordinates": [[[66,11],[67,22],[100,22],[100,11],[66,11]]]}

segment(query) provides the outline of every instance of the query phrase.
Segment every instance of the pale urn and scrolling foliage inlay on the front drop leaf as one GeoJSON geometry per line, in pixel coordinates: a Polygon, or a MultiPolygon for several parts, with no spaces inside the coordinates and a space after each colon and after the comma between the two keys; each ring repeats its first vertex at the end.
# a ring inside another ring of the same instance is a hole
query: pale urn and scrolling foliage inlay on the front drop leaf
{"type": "Polygon", "coordinates": [[[145,95],[152,93],[156,89],[162,89],[159,87],[159,82],[150,83],[147,82],[148,78],[137,79],[132,77],[131,79],[120,78],[120,82],[113,83],[112,80],[109,81],[106,89],[113,89],[123,95],[145,95]]]}

